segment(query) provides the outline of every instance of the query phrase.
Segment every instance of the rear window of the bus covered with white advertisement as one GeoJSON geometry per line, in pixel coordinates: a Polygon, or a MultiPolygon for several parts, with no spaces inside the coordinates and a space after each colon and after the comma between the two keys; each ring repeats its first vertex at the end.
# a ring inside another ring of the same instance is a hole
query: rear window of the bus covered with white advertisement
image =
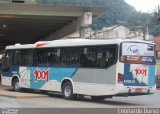
{"type": "Polygon", "coordinates": [[[120,61],[132,64],[155,64],[154,45],[139,42],[121,44],[120,61]]]}

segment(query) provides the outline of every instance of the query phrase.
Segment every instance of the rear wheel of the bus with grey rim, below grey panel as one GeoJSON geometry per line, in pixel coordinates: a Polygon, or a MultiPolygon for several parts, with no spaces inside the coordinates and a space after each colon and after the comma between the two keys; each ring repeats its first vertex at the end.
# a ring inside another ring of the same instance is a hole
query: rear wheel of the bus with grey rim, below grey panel
{"type": "Polygon", "coordinates": [[[62,85],[62,95],[64,99],[72,100],[75,98],[71,82],[67,81],[62,85]]]}

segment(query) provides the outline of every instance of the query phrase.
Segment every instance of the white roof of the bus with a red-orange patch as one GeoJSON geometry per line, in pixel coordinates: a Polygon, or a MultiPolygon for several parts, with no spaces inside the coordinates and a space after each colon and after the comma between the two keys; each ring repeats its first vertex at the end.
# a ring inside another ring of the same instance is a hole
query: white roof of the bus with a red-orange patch
{"type": "Polygon", "coordinates": [[[6,49],[27,49],[27,48],[47,48],[47,47],[70,47],[70,46],[90,46],[90,45],[105,45],[105,44],[120,44],[121,42],[144,42],[148,41],[135,39],[62,39],[53,41],[38,41],[35,44],[15,44],[6,46],[6,49]]]}

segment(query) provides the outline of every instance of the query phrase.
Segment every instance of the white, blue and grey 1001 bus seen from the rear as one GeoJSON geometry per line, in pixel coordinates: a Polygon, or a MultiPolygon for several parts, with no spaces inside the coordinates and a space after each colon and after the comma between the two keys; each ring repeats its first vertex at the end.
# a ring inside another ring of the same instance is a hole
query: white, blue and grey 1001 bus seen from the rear
{"type": "Polygon", "coordinates": [[[153,94],[154,43],[63,39],[6,46],[2,85],[61,92],[65,99],[153,94]]]}

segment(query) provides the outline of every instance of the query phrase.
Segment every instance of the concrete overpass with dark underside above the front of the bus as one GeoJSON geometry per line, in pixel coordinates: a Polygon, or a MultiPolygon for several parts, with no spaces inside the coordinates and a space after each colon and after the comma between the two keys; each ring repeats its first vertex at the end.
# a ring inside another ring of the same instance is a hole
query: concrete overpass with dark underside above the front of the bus
{"type": "Polygon", "coordinates": [[[105,8],[0,3],[0,45],[62,38],[79,30],[82,15],[88,11],[96,17],[105,8]]]}

